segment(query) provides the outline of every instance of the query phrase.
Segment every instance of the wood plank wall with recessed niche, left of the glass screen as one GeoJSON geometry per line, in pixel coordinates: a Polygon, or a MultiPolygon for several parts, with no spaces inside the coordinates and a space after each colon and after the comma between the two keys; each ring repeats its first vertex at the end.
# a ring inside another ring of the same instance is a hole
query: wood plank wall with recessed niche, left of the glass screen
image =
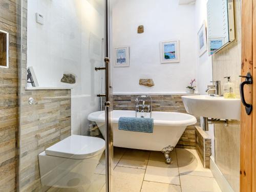
{"type": "Polygon", "coordinates": [[[0,1],[0,29],[9,32],[9,69],[0,68],[0,191],[16,191],[18,74],[15,1],[0,1]]]}

